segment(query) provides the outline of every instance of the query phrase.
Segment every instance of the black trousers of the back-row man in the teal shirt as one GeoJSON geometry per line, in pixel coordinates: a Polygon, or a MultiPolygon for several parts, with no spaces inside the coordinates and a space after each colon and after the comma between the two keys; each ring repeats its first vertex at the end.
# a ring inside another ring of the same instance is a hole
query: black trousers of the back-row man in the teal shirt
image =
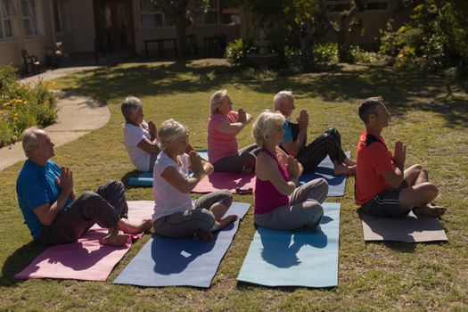
{"type": "MultiPolygon", "coordinates": [[[[288,122],[291,128],[293,140],[296,140],[299,134],[299,126],[288,122]]],[[[331,127],[318,135],[312,143],[303,146],[297,156],[298,161],[304,167],[304,172],[314,172],[318,164],[329,155],[332,161],[338,160],[343,162],[346,159],[346,154],[341,150],[341,135],[340,132],[331,127]]]]}

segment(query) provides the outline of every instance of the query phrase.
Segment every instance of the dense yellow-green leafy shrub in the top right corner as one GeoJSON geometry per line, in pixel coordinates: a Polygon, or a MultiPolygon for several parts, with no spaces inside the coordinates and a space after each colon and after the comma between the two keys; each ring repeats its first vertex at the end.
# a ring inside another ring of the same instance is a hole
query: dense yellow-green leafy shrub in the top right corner
{"type": "Polygon", "coordinates": [[[410,21],[383,32],[381,52],[434,71],[456,66],[466,76],[468,3],[423,1],[413,9],[410,21]]]}

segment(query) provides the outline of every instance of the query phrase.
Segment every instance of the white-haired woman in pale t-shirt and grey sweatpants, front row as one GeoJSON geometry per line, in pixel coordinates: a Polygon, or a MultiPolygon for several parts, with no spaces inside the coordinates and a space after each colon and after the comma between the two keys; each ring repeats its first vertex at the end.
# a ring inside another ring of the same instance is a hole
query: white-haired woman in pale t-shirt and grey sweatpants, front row
{"type": "Polygon", "coordinates": [[[233,195],[222,190],[192,201],[190,192],[213,167],[194,151],[186,154],[188,130],[174,119],[164,121],[158,130],[160,149],[153,168],[155,233],[168,237],[199,236],[209,241],[212,232],[221,229],[237,216],[223,218],[233,195]],[[188,176],[188,170],[193,176],[188,176]]]}

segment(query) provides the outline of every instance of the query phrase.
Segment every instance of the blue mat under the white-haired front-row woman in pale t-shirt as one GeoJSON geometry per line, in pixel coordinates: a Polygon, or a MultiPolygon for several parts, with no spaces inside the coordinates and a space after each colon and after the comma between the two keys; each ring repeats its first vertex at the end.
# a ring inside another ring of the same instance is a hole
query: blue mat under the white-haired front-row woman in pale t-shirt
{"type": "MultiPolygon", "coordinates": [[[[249,203],[233,202],[226,214],[242,218],[249,208],[249,203]]],[[[218,231],[210,242],[154,234],[114,283],[208,288],[238,228],[239,219],[218,231]]]]}

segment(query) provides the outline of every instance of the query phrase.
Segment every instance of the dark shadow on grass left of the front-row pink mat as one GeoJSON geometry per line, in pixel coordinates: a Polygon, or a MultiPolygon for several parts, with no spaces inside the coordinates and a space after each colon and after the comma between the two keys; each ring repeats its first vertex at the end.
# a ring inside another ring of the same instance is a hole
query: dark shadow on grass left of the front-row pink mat
{"type": "Polygon", "coordinates": [[[21,280],[15,280],[14,275],[20,273],[22,269],[27,267],[29,263],[39,255],[39,253],[45,250],[45,248],[46,247],[44,245],[31,241],[22,245],[18,250],[15,250],[4,262],[0,285],[12,286],[15,283],[21,282],[21,280]]]}

